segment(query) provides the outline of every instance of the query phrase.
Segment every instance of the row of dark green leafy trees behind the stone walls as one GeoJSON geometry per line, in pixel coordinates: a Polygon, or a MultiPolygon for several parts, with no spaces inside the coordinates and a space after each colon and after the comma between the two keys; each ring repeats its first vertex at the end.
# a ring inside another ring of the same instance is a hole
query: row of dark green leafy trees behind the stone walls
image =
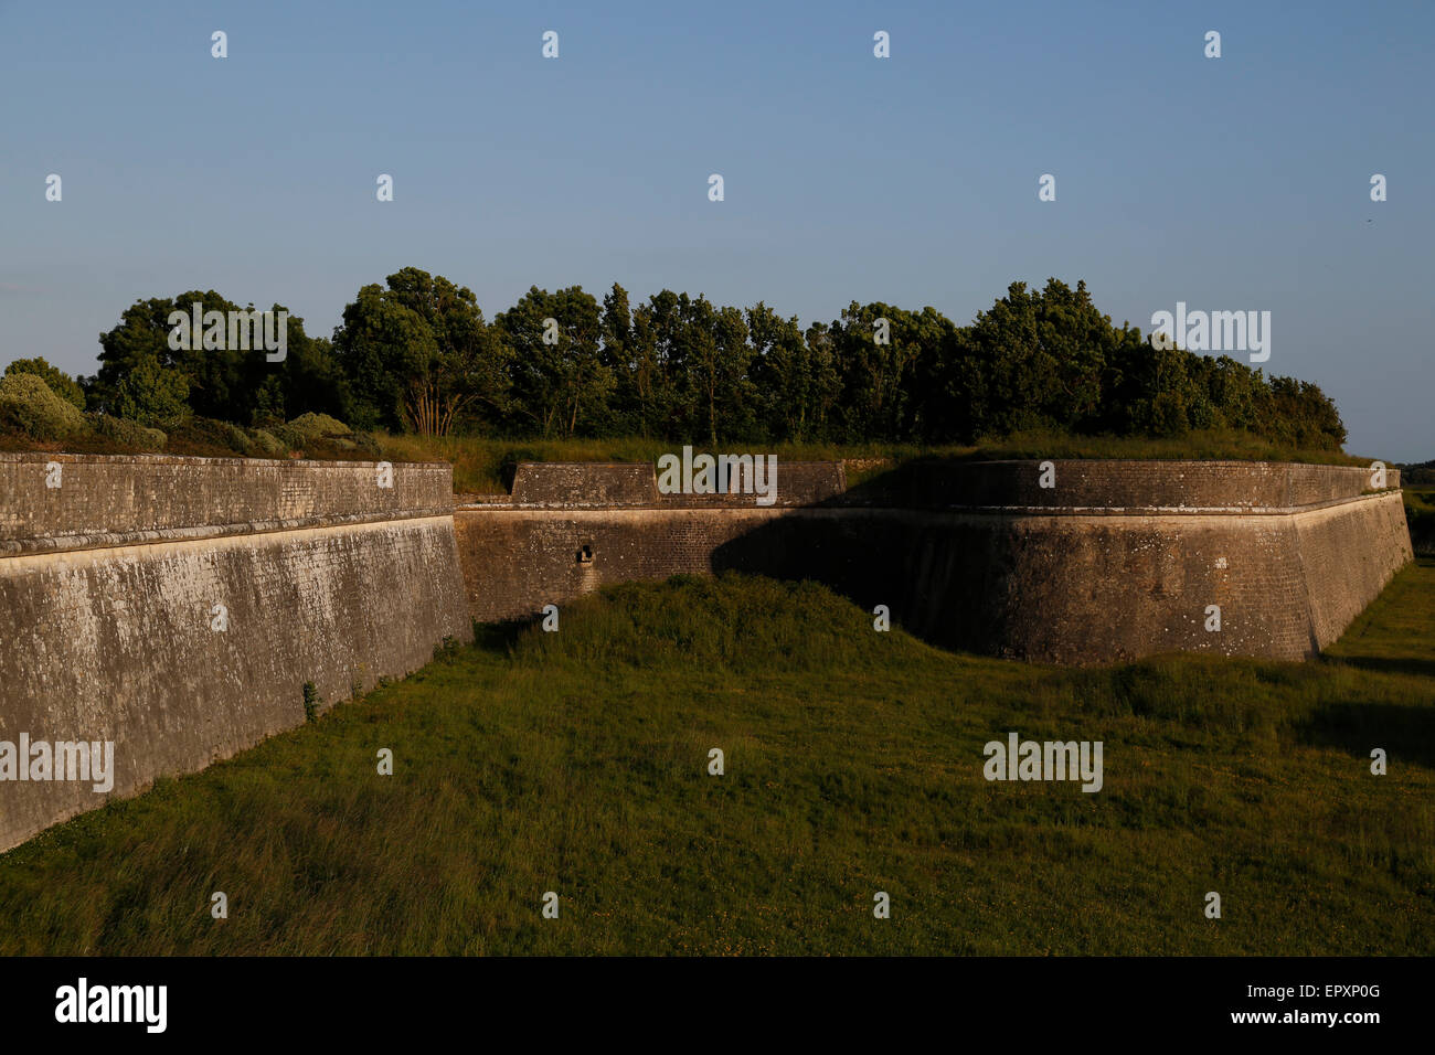
{"type": "MultiPolygon", "coordinates": [[[[287,355],[171,349],[169,316],[240,306],[182,293],[131,306],[82,378],[88,409],[165,428],[199,415],[250,428],[303,413],[353,429],[651,436],[710,444],[969,444],[1026,429],[1178,436],[1244,429],[1339,449],[1314,385],[1234,359],[1158,350],[1114,326],[1085,283],[1013,283],[969,326],[931,307],[851,303],[804,329],[765,303],[718,306],[614,284],[531,289],[485,319],[474,293],[403,268],[364,286],[331,339],[288,319],[287,355]]],[[[283,310],[276,304],[273,310],[283,310]]]]}

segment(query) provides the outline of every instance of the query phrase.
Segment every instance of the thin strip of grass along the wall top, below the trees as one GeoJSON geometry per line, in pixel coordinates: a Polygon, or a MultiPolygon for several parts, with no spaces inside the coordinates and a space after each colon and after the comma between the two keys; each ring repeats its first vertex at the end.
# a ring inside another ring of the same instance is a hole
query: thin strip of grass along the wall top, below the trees
{"type": "MultiPolygon", "coordinates": [[[[680,444],[636,436],[617,439],[492,439],[486,436],[413,436],[380,433],[389,461],[448,461],[453,464],[453,489],[459,494],[507,491],[502,465],[535,462],[656,462],[680,444]]],[[[702,442],[695,442],[699,451],[702,442]]],[[[914,458],[989,461],[1000,458],[1138,458],[1200,461],[1314,462],[1369,465],[1342,451],[1303,451],[1270,444],[1248,432],[1191,432],[1171,439],[1141,436],[1072,436],[1060,432],[1019,432],[984,439],[971,446],[917,446],[911,444],[719,444],[719,451],[762,451],[779,461],[850,462],[848,484],[877,475],[914,458]]]]}

